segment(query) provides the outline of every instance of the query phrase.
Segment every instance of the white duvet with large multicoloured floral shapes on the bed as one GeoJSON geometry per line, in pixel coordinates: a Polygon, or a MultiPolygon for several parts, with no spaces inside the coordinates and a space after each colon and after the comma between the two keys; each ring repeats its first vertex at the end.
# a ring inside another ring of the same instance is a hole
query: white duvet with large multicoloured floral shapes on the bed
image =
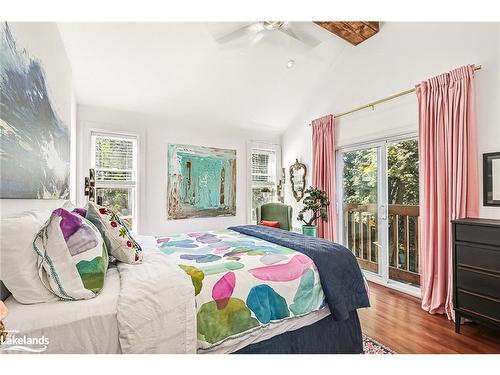
{"type": "Polygon", "coordinates": [[[295,250],[232,230],[159,237],[157,243],[191,278],[199,348],[325,305],[315,264],[295,250]]]}

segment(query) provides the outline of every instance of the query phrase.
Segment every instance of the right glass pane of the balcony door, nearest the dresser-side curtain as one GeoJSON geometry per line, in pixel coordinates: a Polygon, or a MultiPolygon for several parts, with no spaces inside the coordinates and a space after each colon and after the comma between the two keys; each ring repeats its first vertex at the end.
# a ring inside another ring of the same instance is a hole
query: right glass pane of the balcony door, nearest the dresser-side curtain
{"type": "Polygon", "coordinates": [[[389,278],[420,285],[418,263],[418,141],[387,146],[389,278]]]}

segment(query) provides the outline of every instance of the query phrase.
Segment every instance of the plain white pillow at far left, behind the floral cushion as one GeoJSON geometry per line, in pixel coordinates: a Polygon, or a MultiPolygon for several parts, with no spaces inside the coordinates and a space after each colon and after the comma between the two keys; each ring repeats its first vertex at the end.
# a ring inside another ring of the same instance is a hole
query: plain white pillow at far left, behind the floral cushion
{"type": "Polygon", "coordinates": [[[24,304],[57,300],[38,276],[38,257],[33,250],[42,219],[32,211],[0,220],[0,280],[24,304]]]}

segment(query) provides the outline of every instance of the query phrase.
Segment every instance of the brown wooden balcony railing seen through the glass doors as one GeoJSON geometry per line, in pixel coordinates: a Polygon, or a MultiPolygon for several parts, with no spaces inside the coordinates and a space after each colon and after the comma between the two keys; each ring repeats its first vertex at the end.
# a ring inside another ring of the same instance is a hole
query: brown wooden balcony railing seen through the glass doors
{"type": "MultiPolygon", "coordinates": [[[[418,259],[419,207],[389,205],[389,278],[420,285],[418,259]]],[[[344,205],[344,238],[360,266],[378,273],[378,206],[344,205]]]]}

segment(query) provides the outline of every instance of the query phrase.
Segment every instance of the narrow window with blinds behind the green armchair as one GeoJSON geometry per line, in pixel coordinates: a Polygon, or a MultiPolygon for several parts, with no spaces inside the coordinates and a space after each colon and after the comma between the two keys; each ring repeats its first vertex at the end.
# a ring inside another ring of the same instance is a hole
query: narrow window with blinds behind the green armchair
{"type": "Polygon", "coordinates": [[[277,201],[277,146],[257,145],[251,147],[251,221],[257,219],[255,209],[264,203],[277,201]]]}

